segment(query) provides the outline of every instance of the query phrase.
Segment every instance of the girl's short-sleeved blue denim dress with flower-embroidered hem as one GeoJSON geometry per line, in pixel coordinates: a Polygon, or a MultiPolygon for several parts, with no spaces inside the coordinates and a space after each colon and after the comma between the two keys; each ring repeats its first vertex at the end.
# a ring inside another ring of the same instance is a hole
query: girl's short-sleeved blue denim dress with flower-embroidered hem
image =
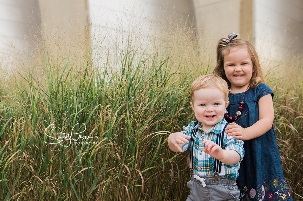
{"type": "MultiPolygon", "coordinates": [[[[235,121],[243,128],[252,126],[259,120],[258,101],[262,96],[274,93],[268,85],[261,83],[255,88],[249,88],[244,97],[241,116],[235,121]]],[[[236,115],[243,93],[230,94],[230,116],[236,115]]],[[[274,127],[264,135],[244,141],[245,156],[241,162],[237,185],[240,189],[240,200],[293,200],[285,181],[281,159],[277,146],[274,127]]]]}

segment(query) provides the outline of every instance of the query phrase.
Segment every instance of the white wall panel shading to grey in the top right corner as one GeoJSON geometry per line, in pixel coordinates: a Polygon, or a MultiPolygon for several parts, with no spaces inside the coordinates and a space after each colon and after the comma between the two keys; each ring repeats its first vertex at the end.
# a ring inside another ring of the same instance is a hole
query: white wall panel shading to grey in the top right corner
{"type": "Polygon", "coordinates": [[[303,51],[303,1],[255,0],[254,38],[259,49],[303,51]]]}

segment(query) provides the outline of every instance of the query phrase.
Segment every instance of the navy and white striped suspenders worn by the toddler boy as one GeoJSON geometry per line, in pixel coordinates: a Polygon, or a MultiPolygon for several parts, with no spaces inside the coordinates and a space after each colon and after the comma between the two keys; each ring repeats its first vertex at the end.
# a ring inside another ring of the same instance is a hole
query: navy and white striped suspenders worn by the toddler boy
{"type": "MultiPolygon", "coordinates": [[[[199,122],[200,123],[200,122],[199,122]]],[[[225,128],[226,126],[228,126],[228,123],[225,124],[224,129],[222,130],[222,132],[220,134],[217,135],[217,139],[216,139],[216,143],[221,146],[223,148],[223,139],[224,139],[224,132],[225,132],[225,128]]],[[[190,147],[190,153],[191,153],[191,157],[190,157],[190,170],[191,170],[191,175],[192,172],[194,171],[194,139],[195,136],[197,134],[199,129],[193,129],[191,132],[191,147],[190,147]]],[[[218,181],[219,178],[219,174],[221,172],[221,165],[222,162],[219,161],[218,159],[215,159],[214,162],[214,174],[215,174],[215,181],[218,181]]]]}

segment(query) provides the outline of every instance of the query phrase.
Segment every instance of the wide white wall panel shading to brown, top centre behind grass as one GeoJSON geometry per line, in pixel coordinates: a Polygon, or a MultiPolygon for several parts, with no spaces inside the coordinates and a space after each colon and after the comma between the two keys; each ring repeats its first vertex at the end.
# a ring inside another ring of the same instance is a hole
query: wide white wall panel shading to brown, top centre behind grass
{"type": "MultiPolygon", "coordinates": [[[[194,21],[191,0],[88,0],[88,9],[92,23],[93,55],[101,66],[107,61],[108,54],[117,54],[114,52],[115,48],[108,47],[125,46],[130,30],[132,41],[144,44],[153,40],[148,38],[148,35],[152,29],[159,26],[153,23],[156,20],[166,20],[172,15],[174,21],[188,20],[188,27],[191,27],[194,21]]],[[[144,48],[144,45],[140,45],[140,48],[144,48]]]]}

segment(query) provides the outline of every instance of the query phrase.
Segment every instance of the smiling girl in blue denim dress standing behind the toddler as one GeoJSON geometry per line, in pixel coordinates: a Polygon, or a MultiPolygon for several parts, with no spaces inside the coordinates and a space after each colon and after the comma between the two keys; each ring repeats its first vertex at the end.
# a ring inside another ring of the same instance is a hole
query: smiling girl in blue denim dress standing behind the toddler
{"type": "Polygon", "coordinates": [[[237,179],[240,200],[292,200],[273,127],[274,94],[264,84],[255,48],[236,36],[229,34],[229,39],[218,42],[214,73],[230,87],[226,133],[244,141],[245,156],[237,179]]]}

